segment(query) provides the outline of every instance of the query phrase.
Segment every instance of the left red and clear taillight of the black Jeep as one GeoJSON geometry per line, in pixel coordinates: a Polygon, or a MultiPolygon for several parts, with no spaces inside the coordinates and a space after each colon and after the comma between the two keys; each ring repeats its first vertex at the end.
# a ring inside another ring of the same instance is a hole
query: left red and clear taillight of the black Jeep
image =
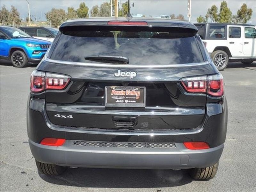
{"type": "Polygon", "coordinates": [[[35,70],[30,78],[30,91],[39,93],[49,89],[62,90],[65,89],[69,81],[69,76],[35,70]]]}

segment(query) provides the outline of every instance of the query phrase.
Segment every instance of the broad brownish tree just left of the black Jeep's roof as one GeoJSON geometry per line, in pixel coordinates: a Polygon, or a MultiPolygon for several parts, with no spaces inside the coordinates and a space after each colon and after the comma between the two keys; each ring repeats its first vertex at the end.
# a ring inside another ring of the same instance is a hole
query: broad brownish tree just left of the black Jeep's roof
{"type": "Polygon", "coordinates": [[[52,25],[59,26],[66,20],[66,12],[63,9],[52,8],[51,11],[45,13],[45,17],[48,21],[51,21],[52,25]]]}

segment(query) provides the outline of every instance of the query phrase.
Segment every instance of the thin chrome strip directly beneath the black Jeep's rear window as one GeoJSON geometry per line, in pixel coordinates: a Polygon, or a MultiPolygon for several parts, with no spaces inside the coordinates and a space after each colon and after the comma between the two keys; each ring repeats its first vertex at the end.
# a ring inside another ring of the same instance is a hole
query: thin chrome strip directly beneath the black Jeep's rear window
{"type": "Polygon", "coordinates": [[[208,65],[209,61],[204,61],[202,63],[186,63],[186,64],[169,64],[169,65],[116,65],[116,64],[99,64],[99,63],[83,63],[83,62],[71,62],[71,61],[61,61],[52,60],[45,56],[45,61],[56,64],[64,65],[77,65],[77,66],[87,66],[87,67],[101,67],[101,68],[172,68],[172,67],[195,67],[208,65]]]}

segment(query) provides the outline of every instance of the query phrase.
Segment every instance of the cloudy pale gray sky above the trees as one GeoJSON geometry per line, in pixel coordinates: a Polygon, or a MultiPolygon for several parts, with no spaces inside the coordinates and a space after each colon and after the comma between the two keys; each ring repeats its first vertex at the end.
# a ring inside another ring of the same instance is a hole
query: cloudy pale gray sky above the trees
{"type": "MultiPolygon", "coordinates": [[[[75,9],[79,7],[79,4],[85,2],[85,4],[92,8],[93,5],[100,5],[103,2],[110,0],[28,0],[30,4],[30,14],[37,16],[37,20],[45,20],[45,13],[51,11],[52,8],[64,9],[67,12],[68,7],[73,6],[75,9]],[[41,17],[43,15],[43,17],[41,17]]],[[[114,1],[114,0],[113,0],[114,1]]],[[[124,3],[126,0],[118,0],[124,3]]],[[[220,3],[222,0],[192,0],[191,3],[191,22],[196,22],[196,18],[199,15],[205,15],[207,9],[212,5],[216,5],[220,8],[220,3]]],[[[160,16],[168,15],[174,13],[175,15],[183,14],[185,19],[187,17],[187,0],[130,0],[130,3],[134,3],[134,7],[131,7],[131,13],[133,14],[143,14],[146,16],[160,16]]],[[[253,10],[252,18],[248,22],[249,24],[256,25],[256,1],[255,0],[232,0],[227,1],[228,7],[233,14],[236,14],[237,10],[240,9],[243,3],[247,4],[249,8],[253,10]]],[[[28,3],[26,0],[0,0],[0,5],[5,5],[7,9],[11,9],[11,5],[15,6],[20,12],[21,18],[26,18],[28,16],[28,3]]],[[[33,18],[32,18],[33,19],[33,18]]],[[[34,19],[33,19],[34,20],[34,19]]]]}

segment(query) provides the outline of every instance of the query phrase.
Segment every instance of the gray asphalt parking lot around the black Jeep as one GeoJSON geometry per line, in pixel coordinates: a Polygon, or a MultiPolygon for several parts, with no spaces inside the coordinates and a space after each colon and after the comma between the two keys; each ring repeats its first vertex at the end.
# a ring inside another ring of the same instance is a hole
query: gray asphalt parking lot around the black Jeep
{"type": "Polygon", "coordinates": [[[228,132],[217,175],[193,181],[186,171],[68,169],[39,175],[28,146],[26,103],[35,66],[14,68],[0,60],[1,187],[3,192],[256,191],[256,62],[230,63],[222,73],[228,100],[228,132]]]}

